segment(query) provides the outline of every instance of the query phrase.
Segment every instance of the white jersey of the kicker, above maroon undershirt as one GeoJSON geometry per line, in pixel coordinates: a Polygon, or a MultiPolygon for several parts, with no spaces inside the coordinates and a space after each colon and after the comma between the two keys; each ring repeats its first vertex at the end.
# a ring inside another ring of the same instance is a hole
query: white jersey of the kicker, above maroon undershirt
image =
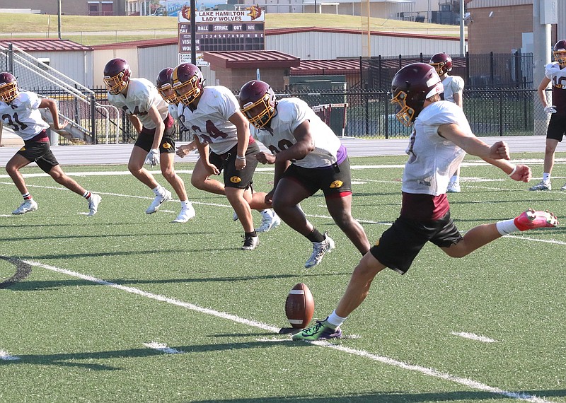
{"type": "Polygon", "coordinates": [[[438,101],[425,107],[415,119],[410,136],[403,192],[433,196],[446,193],[450,177],[466,151],[438,134],[441,124],[458,124],[463,132],[472,133],[466,115],[455,103],[438,101]]]}

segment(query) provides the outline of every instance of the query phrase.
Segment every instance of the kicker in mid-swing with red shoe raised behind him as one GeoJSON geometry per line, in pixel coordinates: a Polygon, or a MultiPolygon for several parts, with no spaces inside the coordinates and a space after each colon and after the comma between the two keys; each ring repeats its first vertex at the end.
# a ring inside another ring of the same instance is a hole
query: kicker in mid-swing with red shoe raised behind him
{"type": "Polygon", "coordinates": [[[490,147],[474,136],[461,108],[440,100],[442,90],[429,64],[409,64],[393,77],[391,102],[397,107],[397,119],[414,127],[403,172],[400,216],[362,257],[333,313],[293,339],[340,337],[340,325],[364,301],[376,274],[386,267],[404,274],[428,241],[450,257],[464,257],[502,235],[558,226],[554,214],[529,209],[514,219],[472,228],[463,236],[458,232],[450,216],[446,187],[465,152],[495,165],[512,180],[528,182],[531,169],[507,162],[509,148],[504,141],[490,147]]]}

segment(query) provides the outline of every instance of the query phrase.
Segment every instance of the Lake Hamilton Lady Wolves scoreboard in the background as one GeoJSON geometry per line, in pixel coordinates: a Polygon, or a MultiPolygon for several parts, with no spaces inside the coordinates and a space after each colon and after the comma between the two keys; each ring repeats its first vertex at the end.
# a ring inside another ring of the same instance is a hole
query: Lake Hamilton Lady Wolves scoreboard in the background
{"type": "MultiPolygon", "coordinates": [[[[195,47],[197,64],[202,52],[265,49],[265,13],[258,6],[241,11],[196,11],[195,47]]],[[[179,13],[179,59],[190,60],[191,21],[179,13]]]]}

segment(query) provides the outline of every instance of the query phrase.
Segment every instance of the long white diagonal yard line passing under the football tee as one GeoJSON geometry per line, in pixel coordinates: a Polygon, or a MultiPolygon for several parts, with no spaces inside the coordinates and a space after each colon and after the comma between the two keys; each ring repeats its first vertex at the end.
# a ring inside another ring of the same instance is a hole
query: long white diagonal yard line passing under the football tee
{"type": "MultiPolygon", "coordinates": [[[[279,327],[267,325],[262,322],[258,322],[255,320],[248,320],[242,317],[238,317],[236,315],[232,315],[230,313],[220,312],[218,310],[213,310],[209,308],[202,308],[199,305],[195,305],[192,303],[185,303],[183,301],[177,300],[175,298],[168,298],[166,296],[161,296],[159,294],[148,293],[147,291],[142,291],[139,288],[134,287],[127,287],[127,286],[120,286],[120,284],[115,284],[110,281],[105,281],[102,279],[97,279],[93,276],[88,276],[86,274],[77,273],[76,271],[70,271],[67,269],[61,269],[59,267],[50,266],[48,264],[42,264],[40,262],[34,262],[33,260],[23,260],[25,264],[30,264],[31,266],[42,267],[43,269],[56,271],[57,273],[67,274],[68,276],[78,277],[79,279],[83,279],[86,281],[91,281],[93,283],[97,283],[103,286],[109,286],[112,288],[117,288],[122,291],[127,291],[128,293],[137,294],[139,296],[144,296],[146,298],[150,298],[153,300],[158,300],[165,303],[170,303],[172,305],[177,305],[182,308],[187,308],[190,310],[195,310],[200,313],[206,313],[207,315],[212,315],[216,317],[221,317],[222,319],[232,320],[233,322],[241,323],[242,325],[247,325],[251,327],[258,327],[260,329],[268,330],[270,332],[274,332],[276,334],[279,333],[279,327]]],[[[316,344],[317,346],[328,347],[330,349],[335,349],[338,351],[345,352],[347,354],[352,354],[355,356],[361,356],[364,358],[369,358],[373,361],[379,361],[380,363],[385,363],[390,366],[396,366],[398,368],[403,368],[407,370],[412,370],[418,373],[422,373],[424,375],[432,376],[434,378],[440,378],[443,380],[449,380],[450,382],[455,382],[460,385],[465,385],[466,387],[470,387],[472,389],[483,390],[485,392],[491,392],[496,395],[502,395],[505,397],[509,397],[512,399],[524,400],[526,402],[534,402],[534,403],[552,403],[548,400],[541,399],[540,397],[536,397],[534,395],[526,395],[523,393],[516,393],[516,392],[508,392],[507,390],[499,389],[499,387],[492,387],[489,385],[485,385],[483,383],[477,382],[475,380],[471,380],[468,378],[460,378],[455,375],[451,375],[449,373],[442,373],[432,368],[425,368],[422,366],[416,366],[408,363],[404,363],[403,361],[397,361],[393,358],[378,356],[376,354],[371,354],[368,351],[364,350],[357,350],[357,349],[350,349],[349,347],[340,346],[337,344],[328,343],[328,341],[308,341],[311,344],[316,344]]]]}

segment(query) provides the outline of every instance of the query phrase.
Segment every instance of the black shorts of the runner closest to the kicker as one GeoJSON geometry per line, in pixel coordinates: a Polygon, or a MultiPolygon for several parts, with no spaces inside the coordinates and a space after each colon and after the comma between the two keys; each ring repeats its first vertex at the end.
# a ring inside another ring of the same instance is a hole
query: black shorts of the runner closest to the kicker
{"type": "Polygon", "coordinates": [[[349,192],[352,193],[352,175],[348,158],[340,164],[324,168],[303,168],[289,165],[283,177],[299,182],[308,192],[315,194],[322,189],[324,196],[349,192]]]}

